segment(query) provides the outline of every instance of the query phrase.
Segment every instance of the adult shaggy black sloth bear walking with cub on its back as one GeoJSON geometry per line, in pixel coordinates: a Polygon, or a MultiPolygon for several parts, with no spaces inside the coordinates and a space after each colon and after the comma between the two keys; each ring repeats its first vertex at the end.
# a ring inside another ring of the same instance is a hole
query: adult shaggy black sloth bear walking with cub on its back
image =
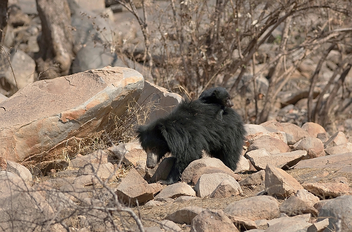
{"type": "Polygon", "coordinates": [[[154,168],[168,152],[175,158],[167,180],[161,182],[166,185],[179,181],[203,150],[235,170],[246,134],[241,116],[233,109],[199,99],[182,101],[169,115],[139,126],[136,132],[147,152],[147,167],[154,168]],[[220,111],[222,120],[215,120],[220,111]]]}

